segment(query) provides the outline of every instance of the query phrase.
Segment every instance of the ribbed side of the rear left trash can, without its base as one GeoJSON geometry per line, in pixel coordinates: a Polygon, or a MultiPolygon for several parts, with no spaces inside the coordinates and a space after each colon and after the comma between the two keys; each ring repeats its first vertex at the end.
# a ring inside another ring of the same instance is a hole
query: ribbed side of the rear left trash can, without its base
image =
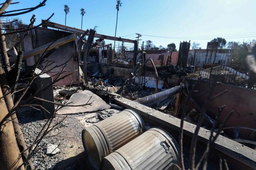
{"type": "Polygon", "coordinates": [[[145,131],[143,120],[131,109],[125,109],[94,125],[104,135],[110,152],[122,147],[145,131]]]}

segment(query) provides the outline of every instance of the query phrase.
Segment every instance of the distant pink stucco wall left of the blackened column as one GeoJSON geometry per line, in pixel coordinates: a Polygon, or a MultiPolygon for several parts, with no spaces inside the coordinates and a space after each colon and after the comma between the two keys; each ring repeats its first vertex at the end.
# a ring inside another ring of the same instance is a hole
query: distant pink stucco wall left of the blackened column
{"type": "MultiPolygon", "coordinates": [[[[178,54],[179,54],[178,52],[172,52],[172,58],[171,58],[171,64],[172,65],[177,64],[178,54]]],[[[160,53],[160,54],[146,54],[146,59],[151,58],[154,61],[155,65],[160,66],[161,60],[158,60],[160,55],[164,55],[164,64],[163,65],[166,65],[166,61],[167,61],[166,55],[170,56],[171,52],[160,53]]],[[[151,65],[151,64],[147,63],[147,65],[151,65]]]]}

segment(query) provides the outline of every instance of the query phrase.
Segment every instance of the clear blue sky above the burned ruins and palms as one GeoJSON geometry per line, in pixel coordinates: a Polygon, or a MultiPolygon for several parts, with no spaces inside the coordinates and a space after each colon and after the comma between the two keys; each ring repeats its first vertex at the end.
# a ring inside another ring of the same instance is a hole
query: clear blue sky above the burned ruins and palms
{"type": "MultiPolygon", "coordinates": [[[[41,0],[42,1],[42,0],[41,0]]],[[[16,2],[16,1],[13,1],[16,2]]],[[[20,4],[9,6],[8,10],[36,6],[40,0],[21,0],[20,4]]],[[[135,39],[135,33],[142,34],[142,41],[150,39],[156,46],[166,47],[180,41],[200,43],[206,48],[214,37],[227,41],[248,41],[256,39],[255,0],[121,0],[118,13],[117,37],[135,39]],[[150,35],[150,36],[148,36],[150,35]],[[153,36],[153,37],[152,37],[153,36]]],[[[97,33],[115,33],[116,0],[48,0],[46,6],[18,16],[29,23],[32,14],[36,24],[48,18],[64,24],[64,4],[70,7],[67,25],[81,28],[80,8],[86,10],[83,29],[98,26],[97,33]]],[[[140,41],[140,44],[142,43],[140,41]]],[[[111,41],[106,41],[106,43],[111,41]]],[[[127,43],[128,47],[132,44],[127,43]]]]}

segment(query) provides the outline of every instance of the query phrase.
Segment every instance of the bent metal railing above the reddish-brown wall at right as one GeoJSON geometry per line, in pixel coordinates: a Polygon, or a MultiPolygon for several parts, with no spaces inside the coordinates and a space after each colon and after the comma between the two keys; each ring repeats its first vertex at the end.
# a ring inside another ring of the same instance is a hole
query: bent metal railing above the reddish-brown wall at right
{"type": "Polygon", "coordinates": [[[214,80],[216,75],[220,76],[220,82],[247,87],[250,81],[250,70],[247,65],[242,64],[207,64],[204,68],[196,71],[202,80],[214,80]]]}

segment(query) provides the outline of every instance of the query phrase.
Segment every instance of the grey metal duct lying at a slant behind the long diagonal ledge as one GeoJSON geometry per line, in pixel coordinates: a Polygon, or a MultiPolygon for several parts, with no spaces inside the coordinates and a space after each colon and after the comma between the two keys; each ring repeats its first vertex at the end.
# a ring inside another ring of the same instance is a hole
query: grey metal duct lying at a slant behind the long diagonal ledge
{"type": "Polygon", "coordinates": [[[162,92],[152,94],[144,98],[140,98],[136,100],[136,102],[138,102],[139,104],[143,104],[145,106],[151,106],[153,104],[156,104],[157,102],[161,102],[162,100],[170,98],[172,95],[178,93],[180,88],[181,86],[176,86],[174,88],[170,88],[168,90],[164,90],[162,92]]]}

